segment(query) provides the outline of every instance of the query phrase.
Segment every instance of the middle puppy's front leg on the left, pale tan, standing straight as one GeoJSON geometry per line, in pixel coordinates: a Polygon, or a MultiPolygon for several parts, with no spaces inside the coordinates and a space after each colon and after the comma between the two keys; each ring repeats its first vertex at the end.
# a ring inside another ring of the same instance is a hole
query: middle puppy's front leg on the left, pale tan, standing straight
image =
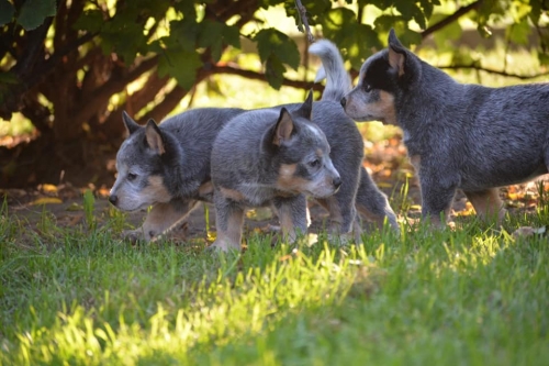
{"type": "Polygon", "coordinates": [[[214,189],[213,201],[217,237],[211,247],[223,252],[240,249],[244,209],[238,202],[225,198],[219,189],[214,189]]]}

